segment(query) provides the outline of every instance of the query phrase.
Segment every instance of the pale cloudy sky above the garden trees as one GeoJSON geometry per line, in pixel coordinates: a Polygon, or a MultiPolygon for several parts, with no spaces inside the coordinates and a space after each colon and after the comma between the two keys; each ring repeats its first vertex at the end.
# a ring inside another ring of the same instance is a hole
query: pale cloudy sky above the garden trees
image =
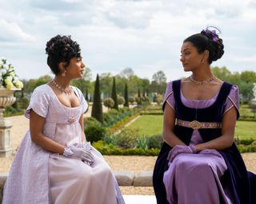
{"type": "Polygon", "coordinates": [[[46,41],[71,35],[86,65],[97,73],[130,67],[152,79],[190,75],[179,61],[182,41],[206,26],[222,31],[225,53],[213,65],[231,72],[256,70],[254,0],[0,0],[0,57],[22,79],[50,74],[46,41]]]}

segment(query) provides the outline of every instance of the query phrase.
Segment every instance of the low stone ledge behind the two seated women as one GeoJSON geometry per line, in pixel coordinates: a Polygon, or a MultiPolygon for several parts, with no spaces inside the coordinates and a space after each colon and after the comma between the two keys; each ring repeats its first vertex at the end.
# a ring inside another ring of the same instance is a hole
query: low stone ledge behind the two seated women
{"type": "MultiPolygon", "coordinates": [[[[0,173],[0,203],[2,203],[2,190],[8,173],[0,173]]],[[[135,175],[133,171],[114,171],[119,186],[153,186],[152,171],[142,171],[135,175]]]]}

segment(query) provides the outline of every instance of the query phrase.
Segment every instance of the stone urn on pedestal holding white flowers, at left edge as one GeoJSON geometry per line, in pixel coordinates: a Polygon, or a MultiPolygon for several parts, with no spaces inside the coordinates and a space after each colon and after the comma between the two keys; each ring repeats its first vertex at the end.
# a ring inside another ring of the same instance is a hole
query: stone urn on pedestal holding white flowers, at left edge
{"type": "Polygon", "coordinates": [[[0,88],[0,157],[10,156],[12,148],[10,147],[10,128],[12,124],[10,120],[3,117],[6,106],[14,104],[16,98],[14,92],[20,89],[0,88]]]}

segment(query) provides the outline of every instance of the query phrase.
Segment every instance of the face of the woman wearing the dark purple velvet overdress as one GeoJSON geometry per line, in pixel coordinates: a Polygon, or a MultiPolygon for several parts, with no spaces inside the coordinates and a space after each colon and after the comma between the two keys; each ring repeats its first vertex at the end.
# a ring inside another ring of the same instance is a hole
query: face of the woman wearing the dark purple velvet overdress
{"type": "Polygon", "coordinates": [[[194,71],[202,65],[203,53],[198,53],[198,49],[190,41],[186,41],[181,49],[182,65],[185,72],[194,71]]]}

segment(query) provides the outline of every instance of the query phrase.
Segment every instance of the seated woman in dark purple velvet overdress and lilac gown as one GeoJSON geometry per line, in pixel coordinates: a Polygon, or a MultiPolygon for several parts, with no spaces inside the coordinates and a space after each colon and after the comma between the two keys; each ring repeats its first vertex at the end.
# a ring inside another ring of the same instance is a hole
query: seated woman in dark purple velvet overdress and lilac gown
{"type": "Polygon", "coordinates": [[[181,61],[190,77],[167,84],[164,144],[154,167],[158,204],[255,203],[255,175],[234,144],[238,87],[214,77],[222,39],[205,29],[187,37],[181,61]]]}

